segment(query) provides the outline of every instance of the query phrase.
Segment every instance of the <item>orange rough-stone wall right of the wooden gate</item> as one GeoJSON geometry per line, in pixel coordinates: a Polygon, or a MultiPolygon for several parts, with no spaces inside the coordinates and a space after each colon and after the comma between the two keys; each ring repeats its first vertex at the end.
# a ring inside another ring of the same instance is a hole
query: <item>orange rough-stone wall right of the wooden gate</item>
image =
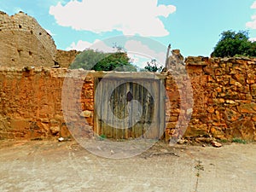
{"type": "Polygon", "coordinates": [[[166,109],[166,140],[184,134],[255,141],[256,59],[188,57],[185,62],[193,89],[193,113],[187,130],[177,128],[179,114],[181,118],[189,114],[180,106],[179,91],[185,90],[167,75],[171,108],[166,109]]]}

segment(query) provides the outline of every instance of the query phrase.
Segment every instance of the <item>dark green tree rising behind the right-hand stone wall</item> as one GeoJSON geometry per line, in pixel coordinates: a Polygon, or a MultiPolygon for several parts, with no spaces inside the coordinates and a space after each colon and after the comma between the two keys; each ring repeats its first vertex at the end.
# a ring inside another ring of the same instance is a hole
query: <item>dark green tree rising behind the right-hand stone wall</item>
{"type": "Polygon", "coordinates": [[[248,32],[226,31],[215,46],[212,57],[256,56],[256,42],[249,41],[248,32]]]}

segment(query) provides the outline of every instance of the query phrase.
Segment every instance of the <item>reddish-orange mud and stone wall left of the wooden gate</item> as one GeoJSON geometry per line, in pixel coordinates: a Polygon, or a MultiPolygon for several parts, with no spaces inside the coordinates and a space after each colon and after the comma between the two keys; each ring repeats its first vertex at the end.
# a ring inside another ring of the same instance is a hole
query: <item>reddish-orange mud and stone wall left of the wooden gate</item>
{"type": "Polygon", "coordinates": [[[78,126],[85,118],[92,125],[93,79],[90,77],[84,81],[77,102],[82,114],[77,114],[74,122],[65,122],[61,90],[66,73],[66,68],[0,67],[0,139],[70,137],[67,123],[78,126]]]}

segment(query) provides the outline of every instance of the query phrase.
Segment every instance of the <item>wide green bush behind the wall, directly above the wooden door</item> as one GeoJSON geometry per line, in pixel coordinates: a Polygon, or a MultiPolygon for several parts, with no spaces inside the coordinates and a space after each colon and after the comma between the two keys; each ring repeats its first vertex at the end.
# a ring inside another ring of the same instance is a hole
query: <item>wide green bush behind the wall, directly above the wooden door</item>
{"type": "Polygon", "coordinates": [[[131,65],[130,58],[119,49],[115,53],[103,53],[93,49],[86,49],[73,61],[71,68],[84,68],[95,71],[131,71],[137,68],[131,65]]]}

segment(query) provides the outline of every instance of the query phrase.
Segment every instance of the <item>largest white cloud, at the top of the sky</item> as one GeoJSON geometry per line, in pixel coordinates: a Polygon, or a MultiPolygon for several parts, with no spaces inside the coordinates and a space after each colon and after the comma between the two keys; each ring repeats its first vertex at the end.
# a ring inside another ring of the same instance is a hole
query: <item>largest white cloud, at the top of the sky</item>
{"type": "Polygon", "coordinates": [[[61,26],[90,32],[112,32],[125,35],[163,37],[169,34],[160,16],[176,11],[173,5],[158,5],[158,0],[77,0],[49,8],[61,26]]]}

